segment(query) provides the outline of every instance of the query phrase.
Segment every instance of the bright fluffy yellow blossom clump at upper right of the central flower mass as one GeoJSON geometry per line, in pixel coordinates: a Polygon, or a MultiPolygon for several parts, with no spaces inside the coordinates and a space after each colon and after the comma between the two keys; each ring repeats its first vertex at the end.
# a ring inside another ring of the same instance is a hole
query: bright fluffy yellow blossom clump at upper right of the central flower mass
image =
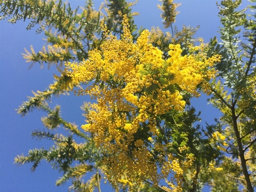
{"type": "MultiPolygon", "coordinates": [[[[200,94],[196,92],[196,86],[200,83],[203,83],[203,88],[208,90],[207,85],[208,81],[204,79],[211,79],[215,76],[216,71],[207,67],[212,67],[215,62],[220,62],[220,56],[216,55],[212,58],[207,58],[203,52],[200,52],[198,55],[189,55],[189,56],[180,56],[181,49],[180,45],[169,45],[171,49],[168,53],[172,56],[167,60],[168,63],[172,63],[168,70],[170,73],[175,74],[175,79],[170,83],[179,84],[182,90],[193,93],[195,97],[198,97],[200,94]]],[[[198,50],[204,49],[204,45],[198,47],[198,50]]]]}

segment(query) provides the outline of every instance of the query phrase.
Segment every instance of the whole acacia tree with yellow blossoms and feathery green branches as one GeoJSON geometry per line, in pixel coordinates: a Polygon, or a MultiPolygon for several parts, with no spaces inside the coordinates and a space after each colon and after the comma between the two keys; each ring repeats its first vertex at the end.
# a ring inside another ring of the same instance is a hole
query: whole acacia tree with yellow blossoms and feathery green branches
{"type": "Polygon", "coordinates": [[[56,184],[73,179],[70,189],[76,191],[100,191],[100,171],[116,191],[199,191],[205,183],[212,184],[213,191],[238,191],[237,180],[253,191],[255,26],[243,11],[235,11],[241,1],[221,1],[222,46],[216,38],[209,44],[193,38],[197,28],[173,31],[179,4],[170,0],[163,0],[159,8],[172,35],[159,28],[136,31],[133,16],[138,13],[131,12],[132,4],[107,1],[97,12],[88,1],[78,13],[61,1],[1,1],[2,18],[31,19],[28,29],[40,24],[38,33],[45,31],[47,49],[35,53],[31,47],[24,58],[56,64],[61,72],[49,89],[34,93],[18,109],[23,116],[33,108],[47,112],[42,121],[49,131],[32,134],[54,140],[54,147],[30,150],[15,162],[33,163],[35,170],[46,159],[63,172],[56,184]],[[244,36],[253,45],[236,45],[237,26],[248,30],[244,36]],[[242,48],[244,54],[239,53],[242,48]],[[249,61],[242,60],[246,57],[249,61]],[[200,90],[211,93],[210,101],[223,113],[218,124],[205,130],[195,125],[199,114],[189,103],[200,90]],[[81,129],[61,118],[60,106],[47,105],[52,95],[67,92],[97,99],[96,104],[84,104],[86,124],[81,129]],[[72,135],[52,134],[58,125],[72,135]],[[76,143],[74,135],[84,143],[76,143]],[[223,157],[221,150],[237,160],[223,157]],[[72,166],[74,162],[79,164],[72,166]],[[84,182],[87,172],[95,175],[84,182]],[[159,183],[162,178],[166,185],[159,183]],[[228,185],[221,185],[223,181],[228,185]]]}

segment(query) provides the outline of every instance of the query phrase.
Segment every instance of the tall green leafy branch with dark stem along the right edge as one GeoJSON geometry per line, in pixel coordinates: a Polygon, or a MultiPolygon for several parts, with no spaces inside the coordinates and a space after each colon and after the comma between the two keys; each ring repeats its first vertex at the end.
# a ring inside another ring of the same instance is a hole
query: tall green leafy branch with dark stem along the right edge
{"type": "MultiPolygon", "coordinates": [[[[221,79],[218,82],[212,81],[212,97],[209,99],[213,106],[223,113],[221,121],[227,126],[222,131],[228,142],[226,152],[234,158],[234,161],[230,161],[233,166],[225,166],[223,170],[228,172],[230,168],[230,173],[235,173],[236,170],[239,174],[230,176],[232,179],[227,188],[220,187],[220,184],[214,186],[213,191],[237,191],[238,181],[243,181],[240,184],[248,191],[253,191],[254,186],[253,177],[250,175],[250,161],[254,159],[254,152],[251,152],[250,147],[255,145],[253,136],[255,134],[255,66],[253,65],[255,63],[256,36],[253,27],[255,20],[247,18],[248,15],[245,13],[247,8],[237,11],[240,6],[241,1],[238,0],[221,1],[219,6],[221,24],[223,24],[223,28],[220,28],[223,59],[222,65],[218,64],[215,67],[220,71],[221,79]],[[241,42],[238,35],[243,28],[245,41],[241,42]],[[246,155],[248,152],[250,157],[246,155]],[[236,161],[241,162],[241,167],[236,166],[236,169],[231,171],[236,161]]],[[[210,47],[214,47],[213,42],[214,40],[210,47]]],[[[220,47],[210,48],[209,52],[216,49],[220,50],[220,47]]],[[[216,179],[214,182],[221,181],[216,179]]]]}

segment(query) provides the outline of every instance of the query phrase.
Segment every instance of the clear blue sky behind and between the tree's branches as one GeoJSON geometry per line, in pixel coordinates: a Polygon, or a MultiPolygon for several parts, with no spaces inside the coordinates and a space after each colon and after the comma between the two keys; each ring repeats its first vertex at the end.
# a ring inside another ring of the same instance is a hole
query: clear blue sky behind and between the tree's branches
{"type": "MultiPolygon", "coordinates": [[[[97,8],[102,1],[96,0],[97,8]]],[[[175,25],[181,29],[182,25],[196,27],[200,26],[196,36],[200,36],[208,42],[214,35],[219,36],[217,31],[220,26],[218,8],[214,0],[180,0],[182,5],[178,8],[177,22],[175,25]]],[[[84,1],[72,1],[72,4],[84,5],[84,1]]],[[[143,28],[150,29],[152,26],[159,26],[161,23],[160,10],[156,0],[140,0],[134,6],[134,12],[140,12],[140,16],[135,17],[135,22],[143,28]]],[[[55,67],[47,69],[40,68],[36,63],[28,70],[30,63],[26,63],[21,53],[24,48],[29,49],[33,45],[35,51],[40,51],[44,45],[44,34],[36,35],[36,27],[27,31],[28,22],[20,20],[17,24],[10,24],[6,20],[0,22],[0,191],[67,191],[70,183],[56,187],[55,182],[61,173],[52,170],[51,165],[45,161],[31,173],[31,164],[16,166],[13,164],[14,157],[18,154],[28,154],[32,148],[48,148],[52,142],[48,140],[35,140],[31,138],[31,131],[34,129],[44,129],[41,117],[46,115],[42,111],[34,110],[28,116],[17,115],[15,109],[27,100],[27,96],[32,95],[31,90],[44,90],[52,83],[52,74],[56,72],[55,67]]],[[[169,29],[164,29],[168,31],[169,29]]],[[[61,105],[61,115],[70,122],[77,125],[84,123],[80,106],[83,101],[88,101],[86,97],[61,96],[52,100],[52,106],[61,105]]],[[[207,121],[212,123],[214,118],[218,118],[218,111],[207,105],[205,97],[194,99],[193,105],[202,111],[202,124],[207,121]],[[209,113],[210,112],[210,113],[209,113]]],[[[102,191],[112,191],[108,186],[102,184],[102,191]]],[[[208,191],[208,189],[205,189],[208,191]]]]}

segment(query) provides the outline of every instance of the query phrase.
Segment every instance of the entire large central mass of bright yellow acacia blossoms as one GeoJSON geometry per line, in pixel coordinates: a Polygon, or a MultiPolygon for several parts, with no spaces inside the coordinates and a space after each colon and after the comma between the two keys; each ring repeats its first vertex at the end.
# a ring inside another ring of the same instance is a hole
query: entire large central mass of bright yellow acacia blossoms
{"type": "MultiPolygon", "coordinates": [[[[188,157],[181,168],[179,160],[161,157],[166,169],[157,173],[156,161],[146,143],[154,143],[154,136],[160,132],[158,115],[184,109],[180,88],[199,95],[196,86],[214,76],[208,68],[218,56],[180,56],[180,46],[170,45],[170,58],[163,60],[163,52],[150,44],[148,30],[143,31],[134,44],[126,15],[123,24],[121,40],[108,34],[102,25],[108,41],[100,50],[90,51],[88,60],[81,63],[66,63],[71,84],[91,83],[78,90],[77,95],[86,94],[97,100],[86,115],[87,124],[82,125],[82,129],[92,133],[97,147],[111,154],[103,162],[109,167],[107,177],[111,175],[120,180],[120,175],[125,173],[128,182],[136,180],[139,185],[141,179],[149,178],[157,184],[160,177],[172,170],[176,173],[175,182],[181,184],[182,168],[190,166],[193,159],[188,157]],[[138,131],[146,131],[152,137],[135,137],[138,131]],[[140,177],[135,177],[134,171],[140,177]]],[[[166,150],[162,144],[154,145],[157,150],[166,150]]]]}

